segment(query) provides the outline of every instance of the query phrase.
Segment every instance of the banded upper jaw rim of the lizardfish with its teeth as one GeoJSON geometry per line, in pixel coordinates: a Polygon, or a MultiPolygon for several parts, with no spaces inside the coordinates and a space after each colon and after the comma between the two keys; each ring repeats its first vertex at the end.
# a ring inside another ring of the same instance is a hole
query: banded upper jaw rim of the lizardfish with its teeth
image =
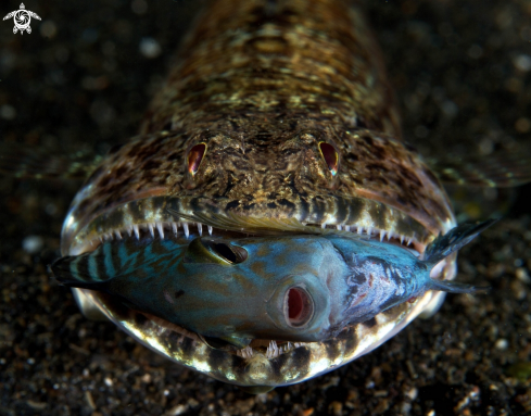
{"type": "Polygon", "coordinates": [[[162,238],[179,232],[187,238],[195,232],[212,235],[216,230],[252,235],[318,235],[333,230],[381,241],[394,239],[421,251],[439,232],[400,210],[363,198],[316,197],[267,217],[265,203],[264,206],[255,203],[245,213],[233,210],[235,205],[235,201],[226,199],[151,197],[114,206],[88,224],[83,224],[73,210],[64,223],[61,249],[63,254],[77,255],[94,250],[105,239],[127,235],[138,238],[141,230],[162,238]]]}

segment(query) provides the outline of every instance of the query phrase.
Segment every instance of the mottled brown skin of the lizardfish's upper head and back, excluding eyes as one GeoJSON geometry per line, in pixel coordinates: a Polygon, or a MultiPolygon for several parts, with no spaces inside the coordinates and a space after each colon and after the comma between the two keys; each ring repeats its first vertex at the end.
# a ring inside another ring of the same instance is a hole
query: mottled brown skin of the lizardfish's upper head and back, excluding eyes
{"type": "Polygon", "coordinates": [[[93,189],[73,213],[76,229],[142,196],[210,197],[239,215],[279,218],[342,196],[394,206],[432,234],[446,230],[446,197],[400,141],[378,48],[349,3],[212,2],[155,97],[143,136],[89,179],[93,189]],[[339,152],[336,177],[319,141],[339,152]],[[199,142],[207,151],[192,177],[186,154],[199,142]]]}

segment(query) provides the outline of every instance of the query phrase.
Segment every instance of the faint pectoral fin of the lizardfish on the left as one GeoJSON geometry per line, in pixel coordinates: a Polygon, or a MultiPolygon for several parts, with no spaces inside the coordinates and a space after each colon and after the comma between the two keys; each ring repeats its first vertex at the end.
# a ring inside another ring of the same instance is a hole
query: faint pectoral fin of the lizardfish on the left
{"type": "Polygon", "coordinates": [[[24,143],[0,144],[0,173],[24,179],[86,179],[100,163],[91,152],[59,153],[24,143]]]}

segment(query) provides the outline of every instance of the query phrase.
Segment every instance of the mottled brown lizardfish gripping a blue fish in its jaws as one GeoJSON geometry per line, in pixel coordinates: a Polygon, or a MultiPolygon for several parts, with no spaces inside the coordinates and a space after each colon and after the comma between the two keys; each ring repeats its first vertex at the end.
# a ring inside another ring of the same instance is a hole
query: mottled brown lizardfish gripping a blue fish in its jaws
{"type": "MultiPolygon", "coordinates": [[[[114,149],[76,196],[62,253],[80,255],[121,238],[177,235],[190,243],[207,231],[239,239],[330,228],[422,253],[454,226],[439,180],[401,140],[380,52],[350,1],[214,0],[141,135],[114,149]]],[[[453,279],[455,255],[435,275],[453,279]]],[[[442,301],[427,291],[326,343],[271,350],[264,345],[275,340],[261,339],[220,353],[190,331],[124,307],[114,300],[119,293],[75,295],[87,316],[110,318],[174,362],[255,387],[303,381],[347,363],[442,301]],[[194,348],[176,342],[176,331],[194,348]]]]}

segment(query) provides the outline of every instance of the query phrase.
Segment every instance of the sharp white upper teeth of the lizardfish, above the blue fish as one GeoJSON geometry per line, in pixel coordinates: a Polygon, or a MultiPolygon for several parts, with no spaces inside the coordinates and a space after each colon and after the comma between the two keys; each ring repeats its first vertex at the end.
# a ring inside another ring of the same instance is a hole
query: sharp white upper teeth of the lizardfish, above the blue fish
{"type": "MultiPolygon", "coordinates": [[[[190,229],[193,229],[193,227],[198,228],[198,232],[200,236],[203,235],[203,227],[206,227],[208,234],[212,236],[213,232],[213,227],[210,225],[205,226],[201,223],[148,223],[148,224],[141,224],[141,225],[132,225],[129,226],[127,230],[114,230],[112,232],[103,234],[100,236],[100,241],[103,242],[104,240],[112,240],[113,238],[116,238],[118,240],[122,240],[122,232],[128,232],[129,237],[135,235],[137,239],[140,239],[140,230],[149,230],[151,234],[152,238],[155,238],[155,231],[159,232],[162,239],[164,239],[165,231],[172,231],[175,237],[177,237],[178,229],[182,227],[182,231],[185,232],[186,238],[190,236],[190,229]]],[[[350,225],[328,225],[327,224],[321,224],[321,228],[327,228],[327,227],[334,227],[339,230],[345,230],[345,231],[352,231],[356,232],[359,236],[366,235],[372,238],[378,238],[380,237],[380,241],[383,241],[385,238],[387,240],[391,239],[396,239],[400,240],[400,243],[404,245],[404,241],[406,242],[406,245],[410,245],[414,241],[414,237],[405,237],[399,234],[395,234],[393,231],[388,231],[384,229],[379,229],[379,228],[371,228],[371,227],[357,227],[357,226],[350,226],[350,225]]]]}

